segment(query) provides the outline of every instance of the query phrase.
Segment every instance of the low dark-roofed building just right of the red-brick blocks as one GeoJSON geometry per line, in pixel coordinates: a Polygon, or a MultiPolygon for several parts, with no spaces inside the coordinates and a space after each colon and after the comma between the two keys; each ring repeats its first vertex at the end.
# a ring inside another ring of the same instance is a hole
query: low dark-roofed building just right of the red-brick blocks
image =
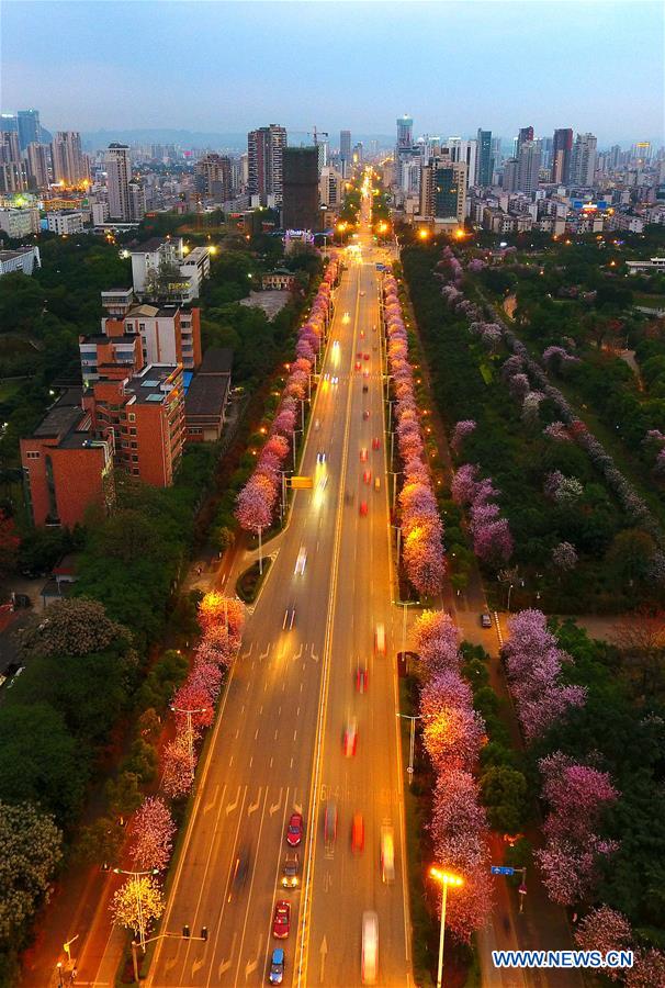
{"type": "Polygon", "coordinates": [[[211,347],[184,398],[188,442],[216,442],[230,392],[233,350],[211,347]]]}

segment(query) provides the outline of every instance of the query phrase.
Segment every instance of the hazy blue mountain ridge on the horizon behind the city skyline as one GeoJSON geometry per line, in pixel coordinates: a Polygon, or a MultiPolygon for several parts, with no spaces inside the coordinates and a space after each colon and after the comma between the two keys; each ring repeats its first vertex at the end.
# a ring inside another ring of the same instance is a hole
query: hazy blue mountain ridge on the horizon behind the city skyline
{"type": "MultiPolygon", "coordinates": [[[[388,134],[352,133],[351,138],[354,144],[358,141],[362,141],[368,149],[372,141],[376,141],[379,147],[392,147],[395,143],[395,137],[388,134]]],[[[193,148],[215,148],[229,151],[247,150],[247,132],[234,134],[215,133],[213,131],[179,131],[167,127],[131,131],[101,130],[83,132],[81,133],[81,139],[83,148],[90,151],[108,147],[112,142],[119,142],[120,144],[177,144],[185,150],[193,148]]],[[[339,133],[332,131],[329,141],[331,147],[337,147],[339,145],[339,133]]],[[[312,136],[304,131],[289,131],[289,144],[312,144],[312,136]]]]}

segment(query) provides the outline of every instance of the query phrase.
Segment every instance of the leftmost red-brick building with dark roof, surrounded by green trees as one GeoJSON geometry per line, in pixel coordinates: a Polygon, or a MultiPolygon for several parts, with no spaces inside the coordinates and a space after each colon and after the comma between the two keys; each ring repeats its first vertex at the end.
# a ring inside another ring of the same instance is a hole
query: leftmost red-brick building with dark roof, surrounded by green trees
{"type": "Polygon", "coordinates": [[[72,528],[113,503],[113,441],[94,434],[92,401],[68,389],[21,439],[25,501],[34,525],[72,528]]]}

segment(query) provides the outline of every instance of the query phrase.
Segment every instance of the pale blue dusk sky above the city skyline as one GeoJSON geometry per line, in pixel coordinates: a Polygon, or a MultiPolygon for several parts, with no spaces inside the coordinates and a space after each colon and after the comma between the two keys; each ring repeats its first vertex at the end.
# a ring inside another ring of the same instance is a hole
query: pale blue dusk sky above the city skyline
{"type": "Polygon", "coordinates": [[[49,130],[663,141],[660,2],[2,3],[2,111],[49,130]]]}

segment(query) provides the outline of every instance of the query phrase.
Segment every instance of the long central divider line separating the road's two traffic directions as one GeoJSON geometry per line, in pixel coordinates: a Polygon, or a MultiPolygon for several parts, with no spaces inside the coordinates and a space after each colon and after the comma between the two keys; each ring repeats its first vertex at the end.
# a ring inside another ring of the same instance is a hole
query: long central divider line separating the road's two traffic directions
{"type": "MultiPolygon", "coordinates": [[[[360,269],[356,283],[356,313],[353,323],[353,346],[350,348],[349,360],[352,359],[356,345],[356,334],[358,332],[358,316],[360,312],[360,269]]],[[[351,398],[353,389],[349,384],[347,389],[347,408],[345,418],[345,433],[341,450],[340,467],[340,484],[343,484],[347,472],[349,457],[349,423],[351,415],[351,398]]],[[[316,722],[316,741],[314,749],[314,771],[312,773],[312,783],[309,787],[309,824],[307,828],[307,847],[306,847],[306,871],[303,884],[303,898],[301,916],[298,918],[298,932],[296,940],[297,975],[296,985],[298,988],[306,988],[307,985],[307,958],[308,958],[308,917],[312,909],[312,890],[311,883],[314,876],[314,863],[316,860],[316,810],[317,804],[315,794],[318,790],[320,768],[323,762],[324,733],[326,722],[326,709],[328,701],[328,683],[330,673],[330,655],[332,651],[332,626],[335,620],[335,609],[337,600],[337,580],[339,574],[339,552],[341,544],[341,529],[343,523],[343,498],[338,498],[337,517],[335,525],[335,539],[332,544],[331,576],[328,590],[328,608],[326,614],[326,630],[324,636],[324,658],[322,669],[322,683],[319,689],[319,708],[316,722]],[[300,954],[298,954],[300,947],[300,954]]]]}

